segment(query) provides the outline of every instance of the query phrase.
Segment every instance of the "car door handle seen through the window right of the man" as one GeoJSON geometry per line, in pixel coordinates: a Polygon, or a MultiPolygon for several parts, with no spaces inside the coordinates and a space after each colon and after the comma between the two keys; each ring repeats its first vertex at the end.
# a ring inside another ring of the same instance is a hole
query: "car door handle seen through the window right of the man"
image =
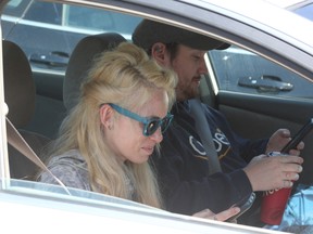
{"type": "Polygon", "coordinates": [[[242,87],[262,90],[264,92],[290,91],[293,89],[292,83],[284,82],[279,77],[271,75],[264,75],[259,78],[241,77],[238,80],[238,84],[242,87]]]}

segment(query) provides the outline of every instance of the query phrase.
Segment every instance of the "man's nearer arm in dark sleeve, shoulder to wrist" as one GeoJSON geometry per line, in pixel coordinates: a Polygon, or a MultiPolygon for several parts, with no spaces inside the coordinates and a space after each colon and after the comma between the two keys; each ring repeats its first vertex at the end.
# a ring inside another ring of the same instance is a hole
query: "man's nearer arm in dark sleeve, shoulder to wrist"
{"type": "Polygon", "coordinates": [[[153,157],[167,210],[192,214],[209,208],[221,212],[250,196],[252,187],[241,169],[209,176],[205,158],[190,152],[175,134],[180,133],[167,131],[161,156],[153,157]]]}

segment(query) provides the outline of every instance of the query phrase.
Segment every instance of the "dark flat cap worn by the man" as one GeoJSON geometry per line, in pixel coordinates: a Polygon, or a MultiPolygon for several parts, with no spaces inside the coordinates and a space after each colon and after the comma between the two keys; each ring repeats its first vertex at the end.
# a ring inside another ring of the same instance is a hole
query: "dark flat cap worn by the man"
{"type": "Polygon", "coordinates": [[[149,50],[156,42],[177,42],[203,51],[224,50],[230,47],[230,44],[220,40],[150,20],[143,20],[136,27],[133,42],[145,50],[149,50]]]}

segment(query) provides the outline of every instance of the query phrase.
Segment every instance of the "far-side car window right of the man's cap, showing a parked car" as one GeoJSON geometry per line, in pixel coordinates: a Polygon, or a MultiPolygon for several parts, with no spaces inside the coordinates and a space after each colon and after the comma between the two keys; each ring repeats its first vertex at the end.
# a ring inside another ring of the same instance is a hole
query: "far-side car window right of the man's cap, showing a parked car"
{"type": "Polygon", "coordinates": [[[218,90],[313,99],[313,83],[240,48],[209,52],[218,90]]]}

